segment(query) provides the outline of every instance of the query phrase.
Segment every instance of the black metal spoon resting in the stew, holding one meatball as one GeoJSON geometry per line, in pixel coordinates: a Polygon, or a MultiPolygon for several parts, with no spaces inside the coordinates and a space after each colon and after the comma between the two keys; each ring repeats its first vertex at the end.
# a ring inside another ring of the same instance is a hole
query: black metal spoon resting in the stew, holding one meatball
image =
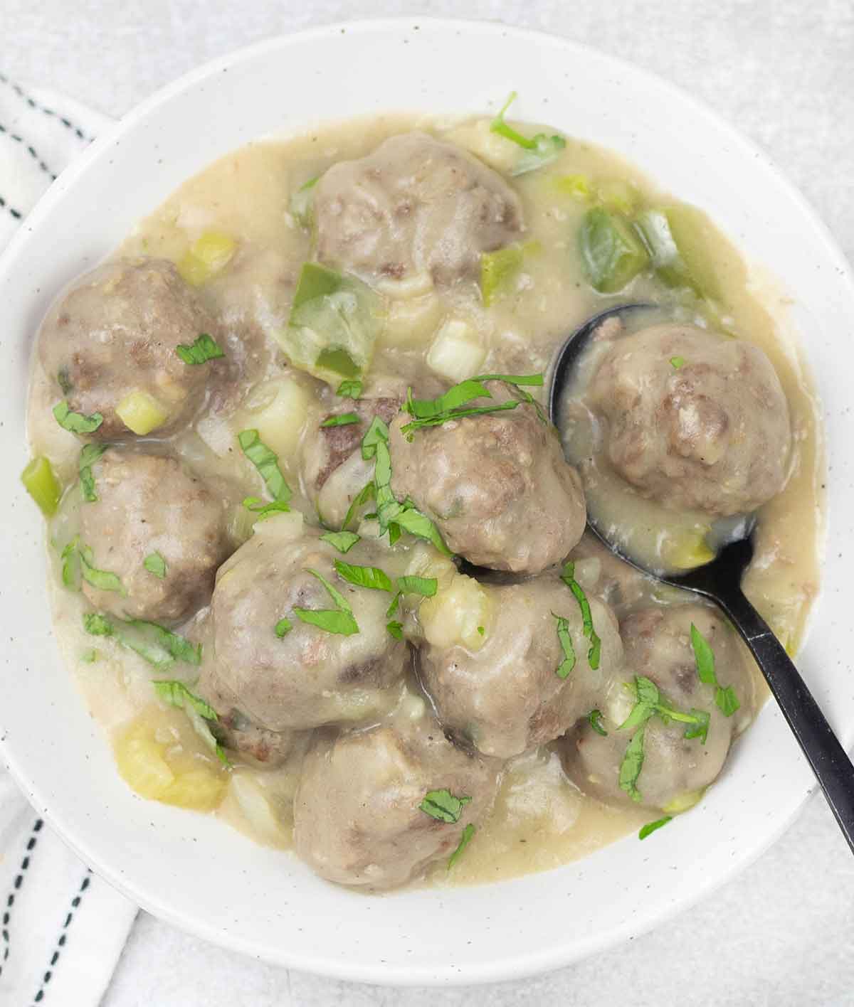
{"type": "MultiPolygon", "coordinates": [[[[548,393],[548,412],[556,426],[564,389],[598,326],[613,315],[652,307],[650,304],[624,304],[609,308],[588,319],[567,339],[558,353],[548,393]]],[[[672,575],[647,570],[623,555],[592,522],[588,521],[587,527],[612,553],[642,573],[664,584],[711,598],[723,609],[756,659],[854,852],[854,766],[783,645],[741,590],[742,575],[753,558],[753,543],[749,537],[751,530],[747,529],[746,538],[724,546],[711,562],[688,573],[672,575]]]]}

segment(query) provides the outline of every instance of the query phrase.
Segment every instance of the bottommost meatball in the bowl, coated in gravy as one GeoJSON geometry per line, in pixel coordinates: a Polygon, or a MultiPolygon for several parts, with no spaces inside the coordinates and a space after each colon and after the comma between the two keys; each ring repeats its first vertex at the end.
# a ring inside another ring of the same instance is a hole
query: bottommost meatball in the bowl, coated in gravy
{"type": "Polygon", "coordinates": [[[500,765],[457,748],[428,718],[338,738],[319,732],[293,802],[296,853],[339,884],[405,884],[447,860],[466,826],[486,815],[500,765]],[[457,822],[421,810],[431,790],[470,799],[457,822]]]}

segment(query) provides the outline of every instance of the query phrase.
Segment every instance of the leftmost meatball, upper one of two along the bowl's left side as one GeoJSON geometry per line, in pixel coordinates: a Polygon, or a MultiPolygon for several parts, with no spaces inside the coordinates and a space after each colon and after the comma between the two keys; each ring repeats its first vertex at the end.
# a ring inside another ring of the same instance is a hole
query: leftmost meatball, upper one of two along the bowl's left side
{"type": "Polygon", "coordinates": [[[119,259],[78,279],[50,309],[38,352],[73,412],[103,416],[92,436],[117,440],[134,436],[116,412],[132,393],[162,409],[158,434],[199,410],[218,362],[188,365],[175,347],[202,333],[223,344],[218,322],[170,262],[119,259]]]}

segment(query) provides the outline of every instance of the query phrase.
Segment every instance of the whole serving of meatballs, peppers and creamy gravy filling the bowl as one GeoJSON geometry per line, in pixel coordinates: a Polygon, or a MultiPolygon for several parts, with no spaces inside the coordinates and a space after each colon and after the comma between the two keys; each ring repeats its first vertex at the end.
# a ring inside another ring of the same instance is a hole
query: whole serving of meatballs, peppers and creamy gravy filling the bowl
{"type": "Polygon", "coordinates": [[[726,620],[588,513],[677,568],[755,520],[746,590],[792,650],[817,590],[779,298],[701,212],[505,113],[249,144],[33,354],[23,478],[119,772],[368,891],[645,837],[755,715],[726,620]],[[558,347],[628,302],[559,434],[558,347]]]}

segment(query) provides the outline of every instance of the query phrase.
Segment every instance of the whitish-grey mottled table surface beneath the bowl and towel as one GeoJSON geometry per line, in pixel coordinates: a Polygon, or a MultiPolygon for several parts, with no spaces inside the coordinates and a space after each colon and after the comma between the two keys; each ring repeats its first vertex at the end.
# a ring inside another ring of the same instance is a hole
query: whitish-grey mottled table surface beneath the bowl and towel
{"type": "MultiPolygon", "coordinates": [[[[854,0],[2,0],[0,69],[119,116],[240,45],[392,10],[545,29],[674,81],[756,140],[854,260],[854,0]]],[[[511,78],[508,67],[508,87],[511,78]]],[[[286,972],[140,913],[104,1003],[854,1004],[854,860],[813,799],[757,863],[653,933],[548,976],[468,990],[391,990],[286,972]]]]}

